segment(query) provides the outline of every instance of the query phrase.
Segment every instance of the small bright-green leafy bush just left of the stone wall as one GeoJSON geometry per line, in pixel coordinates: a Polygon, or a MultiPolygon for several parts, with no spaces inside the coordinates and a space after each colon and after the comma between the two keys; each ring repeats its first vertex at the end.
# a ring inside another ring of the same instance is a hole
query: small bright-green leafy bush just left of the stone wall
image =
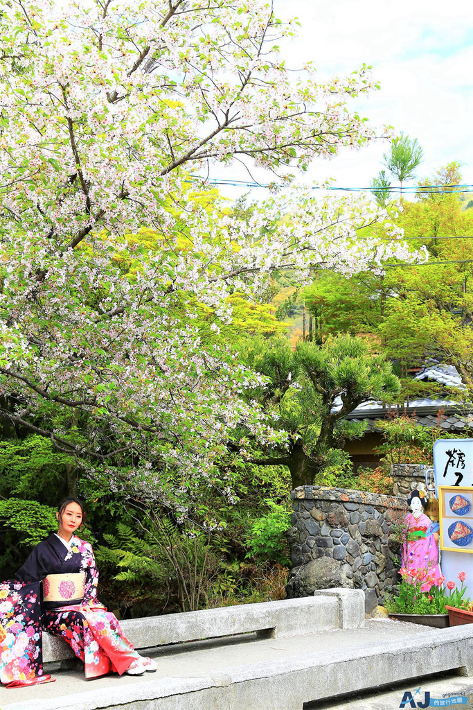
{"type": "Polygon", "coordinates": [[[254,520],[247,537],[250,555],[289,565],[287,557],[286,532],[291,527],[291,513],[274,501],[265,501],[269,508],[267,515],[254,520]]]}

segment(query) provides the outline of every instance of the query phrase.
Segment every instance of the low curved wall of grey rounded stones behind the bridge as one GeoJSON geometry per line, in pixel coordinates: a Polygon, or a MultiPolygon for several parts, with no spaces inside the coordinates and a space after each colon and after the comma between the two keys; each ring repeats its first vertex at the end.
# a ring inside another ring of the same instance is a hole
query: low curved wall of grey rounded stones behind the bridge
{"type": "Polygon", "coordinates": [[[400,550],[391,526],[404,520],[405,499],[327,486],[300,486],[291,498],[288,596],[355,587],[365,590],[371,611],[397,583],[400,550]]]}

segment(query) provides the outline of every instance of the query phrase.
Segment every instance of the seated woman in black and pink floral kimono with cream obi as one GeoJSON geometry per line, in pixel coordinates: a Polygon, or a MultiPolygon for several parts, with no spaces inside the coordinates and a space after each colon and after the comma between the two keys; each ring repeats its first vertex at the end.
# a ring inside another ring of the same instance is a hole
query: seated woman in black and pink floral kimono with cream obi
{"type": "Polygon", "coordinates": [[[15,580],[0,585],[0,681],[13,687],[50,680],[43,674],[39,621],[69,643],[84,662],[86,678],[154,672],[156,663],[134,650],[97,599],[94,553],[74,534],[84,520],[82,503],[65,498],[56,517],[57,532],[36,545],[15,580]]]}

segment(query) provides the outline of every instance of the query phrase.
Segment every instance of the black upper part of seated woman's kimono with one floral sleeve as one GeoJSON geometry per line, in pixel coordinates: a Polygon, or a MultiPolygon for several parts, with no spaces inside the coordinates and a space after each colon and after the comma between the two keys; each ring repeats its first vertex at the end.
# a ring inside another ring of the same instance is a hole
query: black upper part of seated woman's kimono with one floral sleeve
{"type": "MultiPolygon", "coordinates": [[[[16,572],[16,579],[22,582],[34,582],[44,579],[48,574],[67,572],[85,572],[84,599],[81,603],[96,603],[99,572],[96,568],[94,552],[90,543],[80,540],[77,535],[72,536],[70,549],[67,549],[54,534],[39,542],[23,567],[16,572]]],[[[70,604],[77,604],[77,599],[43,602],[42,606],[44,609],[53,609],[70,604]]]]}

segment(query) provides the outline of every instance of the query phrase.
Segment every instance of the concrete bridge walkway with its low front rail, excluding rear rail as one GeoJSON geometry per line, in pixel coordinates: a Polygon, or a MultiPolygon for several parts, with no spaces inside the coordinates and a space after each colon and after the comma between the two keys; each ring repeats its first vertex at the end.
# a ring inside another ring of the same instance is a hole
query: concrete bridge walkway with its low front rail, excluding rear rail
{"type": "MultiPolygon", "coordinates": [[[[302,620],[299,619],[299,622],[302,620]]],[[[473,671],[473,626],[371,620],[364,628],[156,649],[155,674],[0,689],[1,710],[302,710],[320,700],[445,670],[473,671]]],[[[400,701],[399,701],[400,702],[400,701]]],[[[399,703],[398,705],[399,706],[399,703]]]]}

